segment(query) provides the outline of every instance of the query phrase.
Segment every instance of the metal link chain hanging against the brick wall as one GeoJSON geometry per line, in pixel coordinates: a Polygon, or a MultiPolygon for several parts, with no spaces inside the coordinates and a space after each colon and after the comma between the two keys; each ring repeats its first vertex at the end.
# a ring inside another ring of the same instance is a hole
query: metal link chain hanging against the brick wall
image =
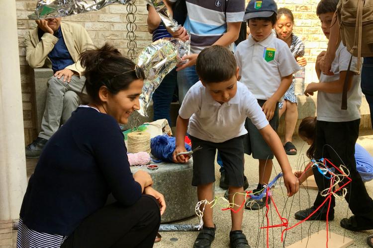
{"type": "Polygon", "coordinates": [[[128,48],[128,52],[127,52],[127,56],[128,58],[130,58],[132,61],[135,60],[135,58],[137,57],[137,43],[136,43],[136,29],[137,29],[137,26],[136,26],[136,11],[137,11],[137,7],[136,7],[136,4],[135,4],[135,1],[136,0],[128,0],[127,1],[127,16],[126,16],[126,19],[127,19],[127,25],[126,25],[126,28],[127,28],[127,48],[128,48]]]}

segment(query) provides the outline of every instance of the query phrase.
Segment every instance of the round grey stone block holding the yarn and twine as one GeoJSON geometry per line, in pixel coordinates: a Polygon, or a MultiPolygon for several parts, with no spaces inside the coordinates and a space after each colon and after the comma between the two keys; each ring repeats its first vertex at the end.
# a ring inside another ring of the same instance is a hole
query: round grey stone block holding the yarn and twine
{"type": "Polygon", "coordinates": [[[147,167],[131,166],[131,172],[148,172],[153,179],[154,188],[165,196],[166,212],[162,223],[177,221],[195,215],[198,202],[197,187],[191,186],[193,174],[192,159],[187,164],[159,163],[158,170],[147,167]]]}

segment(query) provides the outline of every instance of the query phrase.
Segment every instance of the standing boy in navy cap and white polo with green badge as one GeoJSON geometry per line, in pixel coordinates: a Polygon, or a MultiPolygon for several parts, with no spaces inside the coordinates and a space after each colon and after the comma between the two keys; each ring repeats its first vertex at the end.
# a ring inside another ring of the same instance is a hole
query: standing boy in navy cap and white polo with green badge
{"type": "MultiPolygon", "coordinates": [[[[287,44],[272,32],[277,21],[274,0],[251,0],[243,20],[247,20],[250,35],[234,54],[240,68],[239,80],[253,93],[272,128],[277,130],[279,101],[292,82],[292,74],[300,67],[287,44]]],[[[274,153],[250,119],[246,119],[245,127],[249,132],[244,140],[245,153],[259,160],[259,184],[253,192],[260,195],[269,183],[274,153]]],[[[265,205],[266,196],[261,200],[248,199],[245,207],[257,210],[265,205]]]]}

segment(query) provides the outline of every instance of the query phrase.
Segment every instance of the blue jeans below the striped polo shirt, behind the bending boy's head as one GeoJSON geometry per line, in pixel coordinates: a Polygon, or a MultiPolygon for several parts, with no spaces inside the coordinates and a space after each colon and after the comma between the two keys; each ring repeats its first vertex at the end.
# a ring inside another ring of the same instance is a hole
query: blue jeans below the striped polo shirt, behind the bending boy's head
{"type": "Polygon", "coordinates": [[[193,84],[199,81],[195,65],[178,71],[179,102],[183,103],[184,97],[193,84]]]}

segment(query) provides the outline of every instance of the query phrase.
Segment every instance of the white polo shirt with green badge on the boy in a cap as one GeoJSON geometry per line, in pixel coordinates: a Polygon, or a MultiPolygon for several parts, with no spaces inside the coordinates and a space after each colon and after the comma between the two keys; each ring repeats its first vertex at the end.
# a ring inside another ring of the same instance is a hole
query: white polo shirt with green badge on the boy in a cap
{"type": "Polygon", "coordinates": [[[238,44],[234,56],[240,81],[256,99],[268,100],[279,88],[281,77],[300,70],[287,44],[274,35],[259,42],[249,35],[238,44]]]}

